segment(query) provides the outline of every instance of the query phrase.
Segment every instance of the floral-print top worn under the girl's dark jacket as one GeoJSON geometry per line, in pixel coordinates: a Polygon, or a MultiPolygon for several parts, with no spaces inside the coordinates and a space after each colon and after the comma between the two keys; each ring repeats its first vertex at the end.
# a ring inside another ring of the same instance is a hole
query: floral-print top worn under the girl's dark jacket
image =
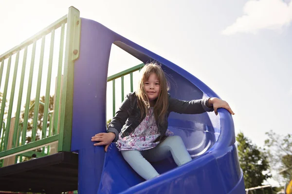
{"type": "MultiPolygon", "coordinates": [[[[173,135],[169,130],[165,135],[173,135]]],[[[150,107],[148,113],[140,125],[131,132],[128,136],[122,138],[119,134],[117,147],[121,150],[146,150],[151,149],[159,144],[154,142],[160,136],[156,126],[153,107],[150,107]]]]}

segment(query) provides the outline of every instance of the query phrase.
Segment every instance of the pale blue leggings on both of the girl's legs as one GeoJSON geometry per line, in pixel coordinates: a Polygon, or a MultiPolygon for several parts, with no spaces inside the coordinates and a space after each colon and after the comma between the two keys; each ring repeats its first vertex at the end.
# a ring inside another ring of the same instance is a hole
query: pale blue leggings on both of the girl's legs
{"type": "Polygon", "coordinates": [[[152,149],[122,150],[121,153],[128,164],[146,180],[159,175],[149,162],[161,161],[168,158],[170,154],[178,166],[192,160],[180,136],[169,136],[152,149]]]}

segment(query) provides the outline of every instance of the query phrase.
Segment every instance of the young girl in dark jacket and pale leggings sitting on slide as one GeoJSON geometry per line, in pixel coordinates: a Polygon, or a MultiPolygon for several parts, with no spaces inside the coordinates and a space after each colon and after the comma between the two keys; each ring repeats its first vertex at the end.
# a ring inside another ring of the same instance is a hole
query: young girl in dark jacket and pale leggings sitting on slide
{"type": "Polygon", "coordinates": [[[127,95],[107,133],[98,133],[91,141],[98,141],[94,146],[105,146],[105,151],[112,142],[117,142],[124,159],[147,180],[159,175],[149,162],[163,160],[170,154],[178,166],[192,160],[181,137],[169,136],[170,112],[215,111],[217,115],[218,108],[225,108],[234,113],[227,102],[216,97],[191,101],[170,97],[164,71],[156,63],[145,65],[140,73],[138,90],[127,95]]]}

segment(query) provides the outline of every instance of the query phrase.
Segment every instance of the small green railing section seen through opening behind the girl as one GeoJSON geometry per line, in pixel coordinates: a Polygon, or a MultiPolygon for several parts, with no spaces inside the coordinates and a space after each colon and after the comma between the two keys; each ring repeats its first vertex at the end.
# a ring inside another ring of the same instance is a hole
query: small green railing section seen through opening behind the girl
{"type": "Polygon", "coordinates": [[[115,80],[121,78],[122,102],[124,100],[124,76],[130,74],[130,90],[133,92],[133,72],[140,71],[145,64],[136,65],[120,73],[108,77],[108,82],[112,81],[112,116],[115,115],[115,80]]]}

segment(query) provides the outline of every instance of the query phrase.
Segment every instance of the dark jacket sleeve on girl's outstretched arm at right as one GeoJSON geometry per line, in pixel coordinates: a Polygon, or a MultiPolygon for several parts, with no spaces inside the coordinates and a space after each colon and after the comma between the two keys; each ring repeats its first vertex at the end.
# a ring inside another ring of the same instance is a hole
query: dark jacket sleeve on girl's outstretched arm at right
{"type": "Polygon", "coordinates": [[[208,107],[209,98],[184,101],[169,97],[169,112],[183,114],[199,114],[214,111],[213,107],[208,107]]]}

